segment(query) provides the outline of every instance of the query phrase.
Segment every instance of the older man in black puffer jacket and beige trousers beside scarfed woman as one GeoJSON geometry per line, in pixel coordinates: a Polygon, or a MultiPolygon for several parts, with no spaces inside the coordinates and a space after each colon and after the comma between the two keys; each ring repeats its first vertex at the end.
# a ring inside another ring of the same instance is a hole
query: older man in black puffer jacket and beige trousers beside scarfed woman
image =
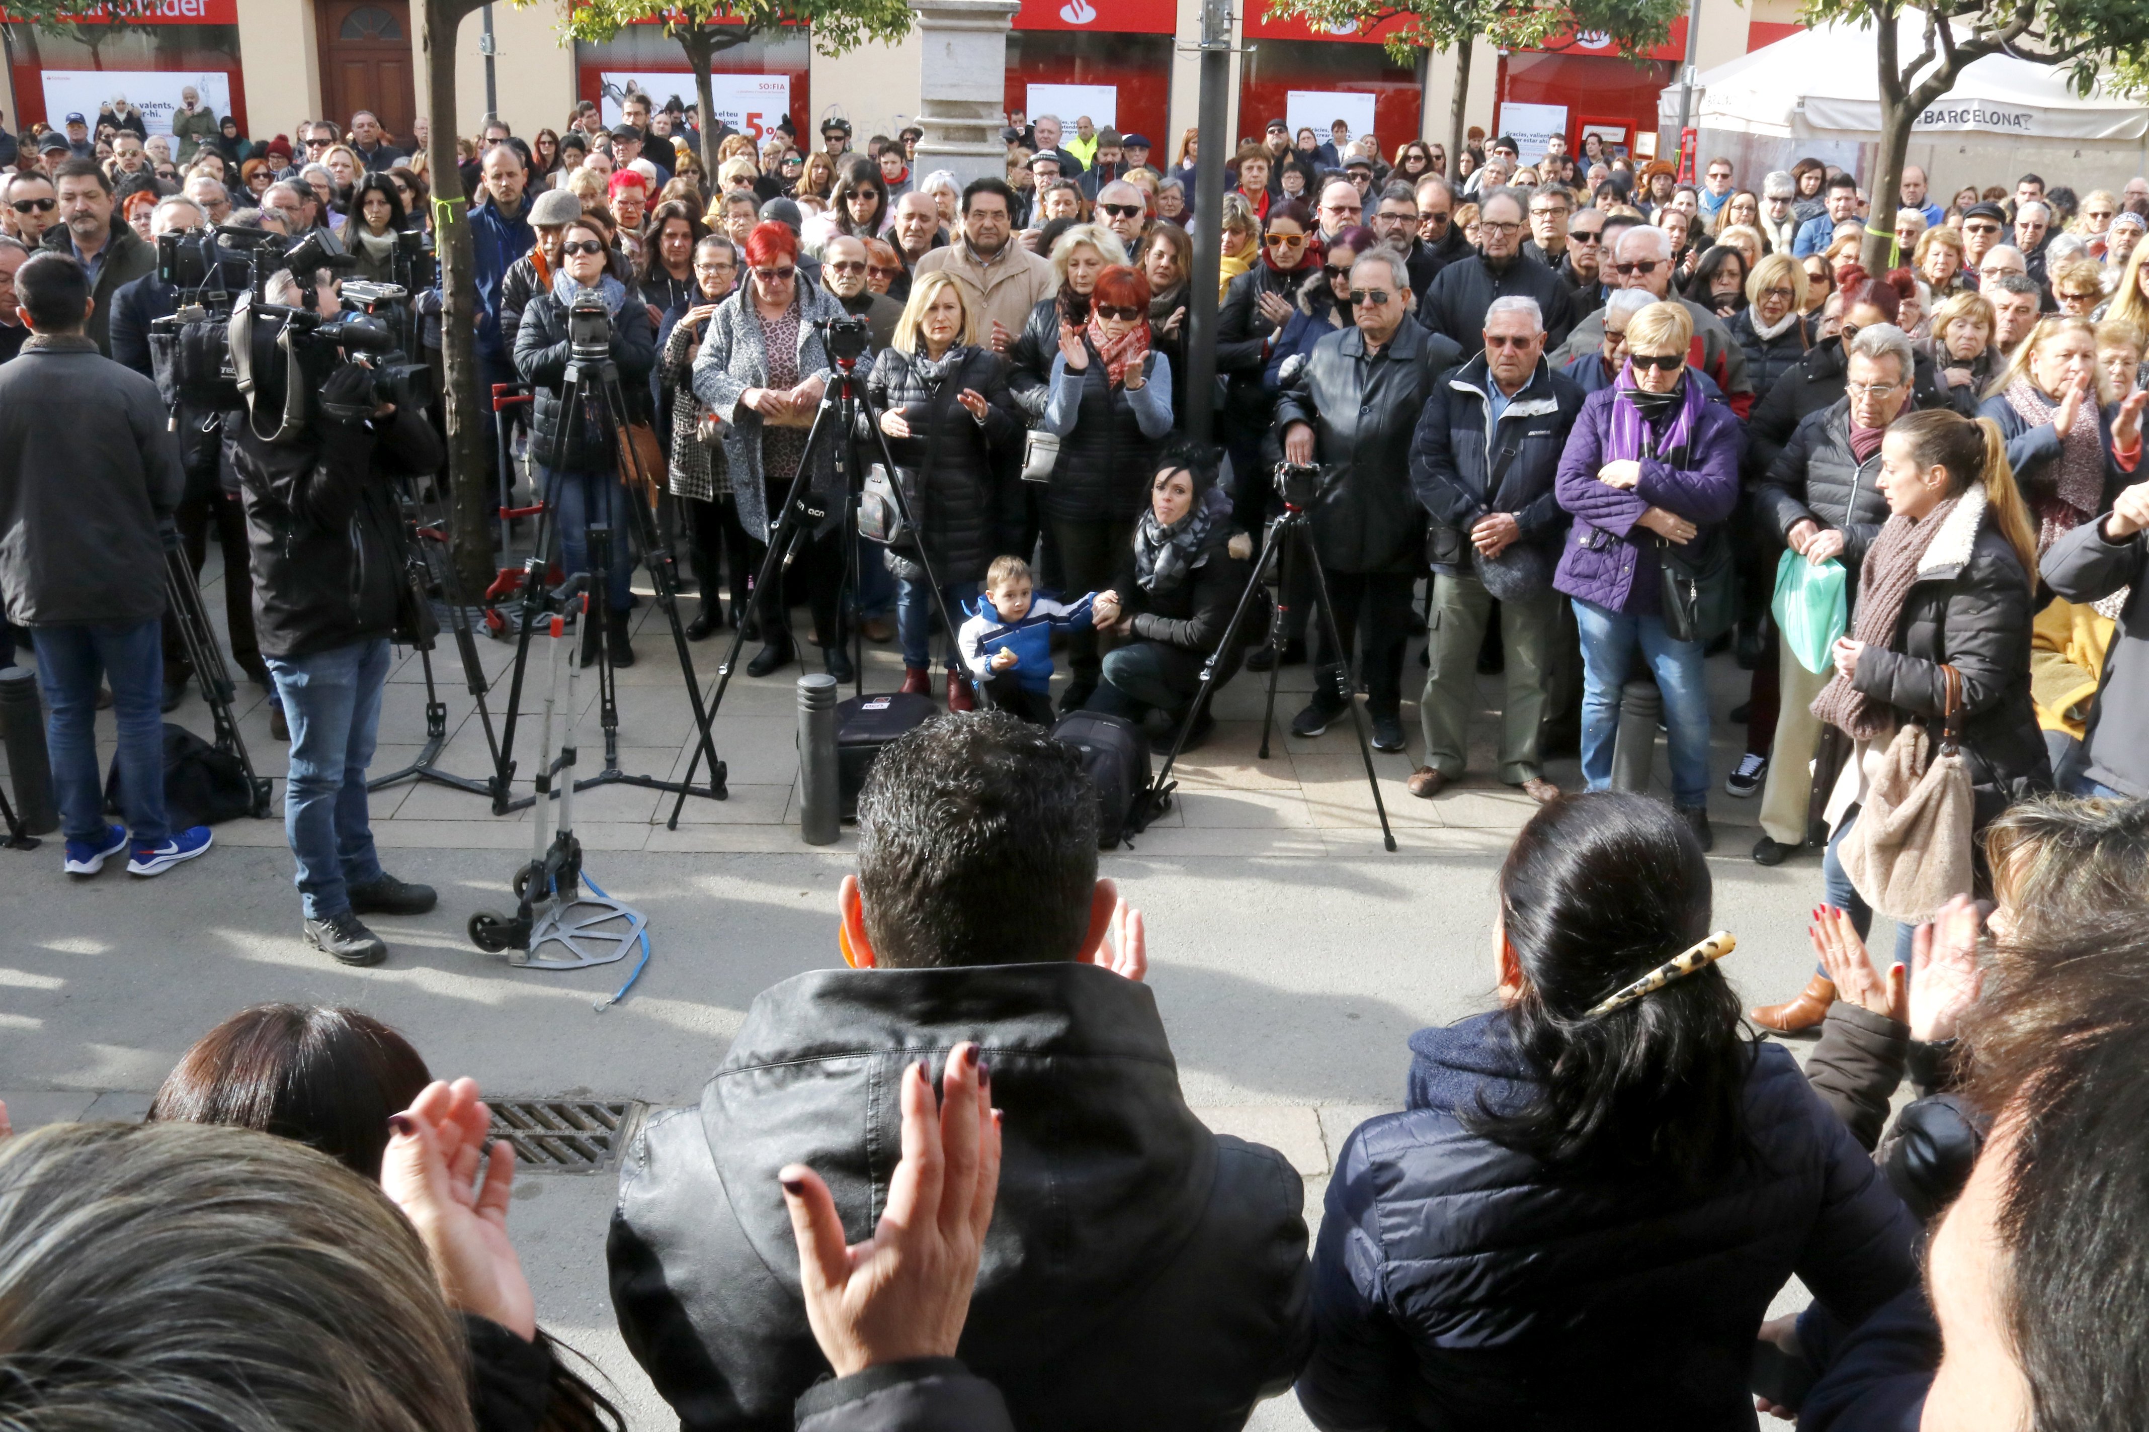
{"type": "MultiPolygon", "coordinates": [[[[1859,562],[1889,517],[1880,492],[1880,436],[1913,406],[1910,337],[1895,324],[1859,328],[1846,367],[1846,395],[1799,423],[1756,489],[1754,507],[1769,537],[1807,562],[1842,560],[1844,595],[1855,603],[1859,562]]],[[[1805,670],[1790,642],[1777,642],[1779,706],[1764,758],[1762,837],[1754,846],[1762,865],[1777,865],[1805,844],[1812,758],[1820,741],[1812,706],[1831,674],[1833,668],[1805,670]],[[1775,760],[1777,754],[1784,760],[1775,760]]]]}

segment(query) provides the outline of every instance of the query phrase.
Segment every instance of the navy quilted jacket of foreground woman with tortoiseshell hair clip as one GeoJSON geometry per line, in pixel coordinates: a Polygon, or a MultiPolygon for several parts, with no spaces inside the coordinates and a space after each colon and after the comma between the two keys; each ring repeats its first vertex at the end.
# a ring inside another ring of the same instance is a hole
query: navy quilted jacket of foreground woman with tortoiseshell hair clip
{"type": "Polygon", "coordinates": [[[1410,1046],[1408,1108],[1328,1183],[1298,1378],[1326,1432],[1754,1428],[1754,1333],[1792,1273],[1848,1323],[1917,1277],[1917,1224],[1782,1046],[1747,1080],[1758,1157],[1700,1194],[1562,1181],[1468,1134],[1457,1110],[1528,1097],[1500,1015],[1410,1046]]]}

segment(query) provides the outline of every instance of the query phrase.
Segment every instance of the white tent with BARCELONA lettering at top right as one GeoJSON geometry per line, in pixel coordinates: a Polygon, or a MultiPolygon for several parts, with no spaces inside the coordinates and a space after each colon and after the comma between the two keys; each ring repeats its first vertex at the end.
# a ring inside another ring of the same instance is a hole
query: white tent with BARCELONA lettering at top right
{"type": "MultiPolygon", "coordinates": [[[[1902,21],[1902,54],[1923,49],[1923,17],[1902,21]]],[[[1663,150],[1678,135],[1678,86],[1657,101],[1663,150]]],[[[1704,71],[1696,79],[1700,155],[1730,157],[1749,187],[1803,155],[1867,178],[1880,142],[1880,77],[1874,32],[1829,24],[1704,71]]],[[[1923,165],[1945,202],[1960,185],[2014,185],[2039,170],[2076,191],[2117,189],[2149,170],[2149,109],[2104,90],[2087,97],[2048,64],[1986,56],[1910,129],[1910,163],[1923,165]]]]}

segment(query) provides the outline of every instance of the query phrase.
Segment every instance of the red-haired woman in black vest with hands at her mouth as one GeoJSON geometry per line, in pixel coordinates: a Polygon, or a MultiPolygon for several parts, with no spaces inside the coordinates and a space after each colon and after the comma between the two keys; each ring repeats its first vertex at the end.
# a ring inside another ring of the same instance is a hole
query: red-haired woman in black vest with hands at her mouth
{"type": "MultiPolygon", "coordinates": [[[[1171,421],[1171,361],[1150,348],[1150,281],[1139,268],[1113,264],[1090,290],[1087,322],[1059,326],[1051,397],[1038,423],[1059,438],[1044,517],[1059,543],[1066,590],[1094,593],[1111,582],[1135,541],[1171,421]]],[[[1062,713],[1081,711],[1096,691],[1096,631],[1068,635],[1068,672],[1074,681],[1062,713]]]]}

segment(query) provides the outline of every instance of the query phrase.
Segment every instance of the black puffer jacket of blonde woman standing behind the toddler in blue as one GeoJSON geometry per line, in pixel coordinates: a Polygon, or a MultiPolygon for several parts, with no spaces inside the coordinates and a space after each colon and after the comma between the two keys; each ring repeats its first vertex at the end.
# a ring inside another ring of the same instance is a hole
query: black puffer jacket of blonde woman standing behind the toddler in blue
{"type": "MultiPolygon", "coordinates": [[[[883,348],[866,391],[875,408],[900,412],[911,425],[911,436],[890,438],[888,451],[903,472],[911,520],[924,530],[933,575],[943,584],[982,582],[993,558],[1014,552],[1023,537],[1023,494],[1010,472],[1023,425],[1008,397],[1008,365],[984,348],[963,348],[948,354],[948,376],[931,384],[913,354],[883,348]],[[989,404],[982,425],[956,401],[963,389],[976,389],[989,404]]],[[[862,451],[877,451],[864,414],[857,425],[862,451]]],[[[924,582],[915,552],[915,545],[890,547],[888,569],[905,582],[924,582]]]]}

